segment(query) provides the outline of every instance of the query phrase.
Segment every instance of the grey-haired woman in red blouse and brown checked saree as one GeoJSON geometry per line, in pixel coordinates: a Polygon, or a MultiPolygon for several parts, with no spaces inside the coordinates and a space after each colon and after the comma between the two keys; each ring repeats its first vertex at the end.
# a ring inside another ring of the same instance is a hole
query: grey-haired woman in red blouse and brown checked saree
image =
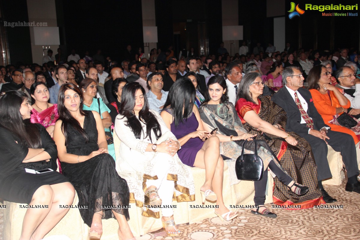
{"type": "Polygon", "coordinates": [[[258,73],[246,74],[240,82],[235,109],[251,134],[265,140],[280,161],[281,166],[297,182],[309,187],[309,192],[298,196],[275,178],[273,199],[278,205],[301,205],[311,208],[323,203],[316,178],[316,165],[309,143],[293,132],[285,132],[286,112],[261,96],[264,84],[258,73]]]}

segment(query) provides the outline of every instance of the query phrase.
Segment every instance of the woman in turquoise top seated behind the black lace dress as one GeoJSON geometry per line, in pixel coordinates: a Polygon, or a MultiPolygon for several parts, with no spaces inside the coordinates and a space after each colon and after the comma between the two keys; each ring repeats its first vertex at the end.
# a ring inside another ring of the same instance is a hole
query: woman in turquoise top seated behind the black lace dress
{"type": "MultiPolygon", "coordinates": [[[[111,132],[112,121],[109,114],[110,109],[104,104],[102,98],[96,99],[96,93],[98,92],[98,85],[96,81],[91,78],[85,78],[80,82],[79,88],[82,91],[84,99],[84,105],[82,109],[96,111],[100,113],[105,132],[111,132]]],[[[114,160],[116,160],[114,144],[108,145],[108,151],[109,154],[114,158],[114,160]]]]}

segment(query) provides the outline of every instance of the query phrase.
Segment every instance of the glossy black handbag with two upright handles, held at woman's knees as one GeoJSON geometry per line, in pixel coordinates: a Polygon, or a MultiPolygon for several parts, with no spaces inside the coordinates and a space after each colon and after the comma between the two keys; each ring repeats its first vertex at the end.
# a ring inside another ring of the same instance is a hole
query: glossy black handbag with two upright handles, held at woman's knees
{"type": "Polygon", "coordinates": [[[235,172],[238,180],[258,181],[261,180],[264,173],[264,163],[257,155],[256,140],[253,141],[255,141],[254,154],[244,154],[245,143],[247,142],[244,140],[241,155],[236,159],[235,172]]]}

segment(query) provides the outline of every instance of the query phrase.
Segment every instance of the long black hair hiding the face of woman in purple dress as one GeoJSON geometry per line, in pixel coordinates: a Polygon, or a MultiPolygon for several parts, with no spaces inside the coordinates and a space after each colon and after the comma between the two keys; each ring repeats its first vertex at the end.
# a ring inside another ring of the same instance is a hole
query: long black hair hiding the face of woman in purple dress
{"type": "Polygon", "coordinates": [[[181,77],[171,86],[163,110],[171,109],[175,127],[180,122],[184,123],[184,119],[193,111],[195,98],[195,87],[189,78],[181,77]]]}

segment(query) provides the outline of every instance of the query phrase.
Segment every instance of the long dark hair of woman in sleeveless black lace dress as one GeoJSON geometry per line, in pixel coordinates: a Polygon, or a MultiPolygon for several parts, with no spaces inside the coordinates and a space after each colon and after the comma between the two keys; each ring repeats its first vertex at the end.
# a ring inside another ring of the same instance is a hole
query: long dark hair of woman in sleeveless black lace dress
{"type": "Polygon", "coordinates": [[[82,110],[83,100],[82,100],[82,93],[81,93],[80,89],[72,83],[63,84],[59,89],[58,112],[59,112],[59,119],[63,121],[61,123],[61,130],[65,137],[65,146],[67,146],[67,129],[68,129],[69,125],[71,125],[73,128],[75,128],[76,131],[80,132],[80,134],[85,138],[85,142],[87,143],[87,142],[89,142],[89,136],[87,136],[84,129],[82,129],[82,127],[80,126],[80,123],[71,115],[69,110],[64,105],[66,90],[73,90],[79,95],[79,97],[80,97],[80,107],[79,107],[80,114],[82,116],[89,115],[88,112],[82,110]]]}

